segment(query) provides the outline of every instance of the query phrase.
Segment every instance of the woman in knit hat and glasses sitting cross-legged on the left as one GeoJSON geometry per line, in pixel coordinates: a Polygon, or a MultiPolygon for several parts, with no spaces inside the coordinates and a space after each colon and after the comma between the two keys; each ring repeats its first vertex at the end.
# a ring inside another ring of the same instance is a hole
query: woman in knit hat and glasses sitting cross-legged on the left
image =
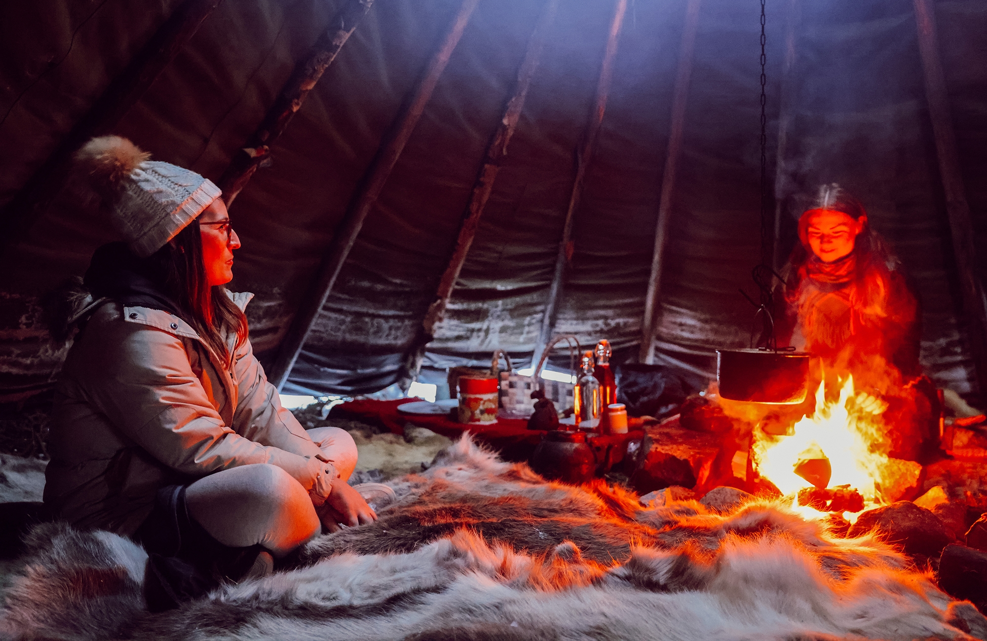
{"type": "Polygon", "coordinates": [[[44,503],[73,525],[133,537],[150,554],[152,608],[377,517],[346,484],[356,447],[306,432],[281,407],[247,337],[250,294],[231,294],[219,189],[123,138],[87,143],[78,166],[125,243],[96,250],[91,298],[58,384],[44,503]]]}

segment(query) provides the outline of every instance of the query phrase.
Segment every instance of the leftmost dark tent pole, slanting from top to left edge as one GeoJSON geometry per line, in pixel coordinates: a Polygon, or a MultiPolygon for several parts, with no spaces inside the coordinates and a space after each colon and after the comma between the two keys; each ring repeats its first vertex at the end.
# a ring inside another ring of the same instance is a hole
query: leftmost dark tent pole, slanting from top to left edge
{"type": "Polygon", "coordinates": [[[140,100],[165,67],[175,59],[209,14],[222,0],[187,0],[151,36],[104,90],[40,169],[0,213],[0,249],[23,238],[61,191],[72,167],[72,154],[93,136],[111,133],[126,112],[140,100]]]}

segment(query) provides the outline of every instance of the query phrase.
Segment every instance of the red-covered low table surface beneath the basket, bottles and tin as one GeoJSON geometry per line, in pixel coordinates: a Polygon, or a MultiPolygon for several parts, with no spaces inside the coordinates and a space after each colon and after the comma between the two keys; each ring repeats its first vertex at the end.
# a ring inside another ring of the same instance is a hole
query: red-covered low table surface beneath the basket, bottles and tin
{"type": "MultiPolygon", "coordinates": [[[[467,425],[451,420],[448,415],[406,414],[398,411],[398,405],[420,400],[420,398],[399,398],[397,400],[358,399],[340,403],[329,413],[330,418],[358,420],[384,428],[394,434],[404,434],[405,425],[441,434],[450,439],[458,439],[463,432],[470,432],[478,443],[490,446],[504,461],[528,461],[545,434],[545,430],[529,430],[527,419],[499,418],[491,425],[467,425]]],[[[643,430],[632,430],[627,434],[606,434],[589,439],[590,447],[598,462],[606,462],[610,468],[624,458],[627,442],[641,440],[643,430]]]]}

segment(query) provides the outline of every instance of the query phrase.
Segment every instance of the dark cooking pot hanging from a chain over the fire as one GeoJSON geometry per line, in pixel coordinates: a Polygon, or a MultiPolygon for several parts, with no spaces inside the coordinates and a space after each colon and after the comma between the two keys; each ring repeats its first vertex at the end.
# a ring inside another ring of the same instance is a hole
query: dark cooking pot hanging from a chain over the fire
{"type": "Polygon", "coordinates": [[[730,400],[794,405],[805,400],[811,354],[770,349],[718,349],[720,395],[730,400]]]}

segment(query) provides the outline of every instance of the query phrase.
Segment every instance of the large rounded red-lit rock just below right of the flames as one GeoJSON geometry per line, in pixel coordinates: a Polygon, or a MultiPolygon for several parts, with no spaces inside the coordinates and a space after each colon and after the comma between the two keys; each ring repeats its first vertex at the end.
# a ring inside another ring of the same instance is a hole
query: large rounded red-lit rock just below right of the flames
{"type": "Polygon", "coordinates": [[[937,556],[955,536],[935,514],[911,501],[868,510],[850,527],[849,536],[861,536],[872,530],[883,533],[890,542],[898,543],[906,554],[937,556]]]}

